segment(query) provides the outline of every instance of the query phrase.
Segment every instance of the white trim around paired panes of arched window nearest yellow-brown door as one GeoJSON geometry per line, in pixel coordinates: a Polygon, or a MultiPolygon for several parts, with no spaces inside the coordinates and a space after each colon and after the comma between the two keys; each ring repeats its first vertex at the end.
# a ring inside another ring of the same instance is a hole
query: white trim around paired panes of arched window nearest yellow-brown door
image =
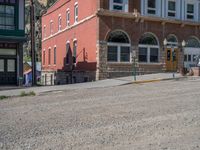
{"type": "MultiPolygon", "coordinates": [[[[140,64],[159,64],[160,63],[160,47],[159,45],[143,45],[140,44],[139,48],[147,48],[147,62],[139,62],[140,64]],[[150,48],[158,48],[158,62],[150,62],[150,48]]],[[[138,53],[139,56],[139,53],[138,53]]]]}

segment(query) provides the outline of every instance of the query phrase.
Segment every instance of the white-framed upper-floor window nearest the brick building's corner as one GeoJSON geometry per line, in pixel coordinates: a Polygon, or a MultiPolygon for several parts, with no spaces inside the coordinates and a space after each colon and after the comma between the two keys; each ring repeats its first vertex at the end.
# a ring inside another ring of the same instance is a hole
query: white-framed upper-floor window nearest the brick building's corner
{"type": "Polygon", "coordinates": [[[128,12],[128,0],[110,0],[110,10],[128,12]]]}

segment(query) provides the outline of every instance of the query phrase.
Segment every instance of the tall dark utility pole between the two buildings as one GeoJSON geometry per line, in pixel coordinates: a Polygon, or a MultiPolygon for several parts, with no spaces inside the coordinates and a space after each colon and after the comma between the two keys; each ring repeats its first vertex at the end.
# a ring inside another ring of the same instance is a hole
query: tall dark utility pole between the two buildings
{"type": "Polygon", "coordinates": [[[32,86],[37,84],[36,60],[35,60],[35,14],[34,3],[30,0],[30,27],[31,27],[31,62],[32,62],[32,86]]]}

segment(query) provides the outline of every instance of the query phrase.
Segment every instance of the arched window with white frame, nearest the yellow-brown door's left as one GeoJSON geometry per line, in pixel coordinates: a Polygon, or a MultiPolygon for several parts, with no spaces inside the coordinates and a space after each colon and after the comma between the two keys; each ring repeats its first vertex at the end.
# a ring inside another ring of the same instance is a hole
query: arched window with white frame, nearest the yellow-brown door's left
{"type": "Polygon", "coordinates": [[[151,33],[145,33],[139,40],[139,62],[158,63],[159,44],[151,33]]]}

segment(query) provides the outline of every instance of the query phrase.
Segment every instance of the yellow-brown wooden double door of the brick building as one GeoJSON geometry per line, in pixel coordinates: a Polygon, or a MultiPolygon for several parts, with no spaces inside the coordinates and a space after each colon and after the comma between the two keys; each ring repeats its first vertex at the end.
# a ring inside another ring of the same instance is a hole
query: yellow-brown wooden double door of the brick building
{"type": "Polygon", "coordinates": [[[178,49],[166,49],[166,70],[176,71],[178,68],[178,49]]]}

